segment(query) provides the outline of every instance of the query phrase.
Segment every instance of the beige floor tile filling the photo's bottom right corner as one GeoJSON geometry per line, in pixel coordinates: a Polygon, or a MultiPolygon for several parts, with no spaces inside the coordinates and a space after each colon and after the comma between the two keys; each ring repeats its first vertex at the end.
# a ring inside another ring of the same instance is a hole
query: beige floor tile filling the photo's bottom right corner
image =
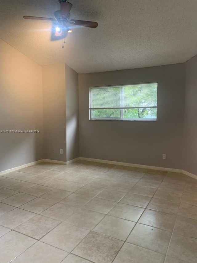
{"type": "Polygon", "coordinates": [[[173,233],[169,249],[167,251],[167,255],[171,257],[176,257],[183,261],[196,263],[196,248],[197,239],[173,233]]]}

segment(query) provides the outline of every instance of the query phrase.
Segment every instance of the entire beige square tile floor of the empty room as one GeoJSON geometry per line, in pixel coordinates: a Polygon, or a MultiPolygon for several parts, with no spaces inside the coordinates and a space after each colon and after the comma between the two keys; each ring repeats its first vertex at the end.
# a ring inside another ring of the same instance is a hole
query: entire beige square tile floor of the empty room
{"type": "Polygon", "coordinates": [[[0,176],[1,263],[196,259],[196,179],[86,161],[0,176]]]}

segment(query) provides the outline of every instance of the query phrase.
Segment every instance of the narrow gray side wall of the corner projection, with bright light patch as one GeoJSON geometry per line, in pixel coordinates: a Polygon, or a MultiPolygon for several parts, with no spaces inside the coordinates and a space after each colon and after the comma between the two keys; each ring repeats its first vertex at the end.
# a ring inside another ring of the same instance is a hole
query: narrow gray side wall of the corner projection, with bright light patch
{"type": "Polygon", "coordinates": [[[78,73],[66,70],[66,160],[79,157],[78,73]]]}

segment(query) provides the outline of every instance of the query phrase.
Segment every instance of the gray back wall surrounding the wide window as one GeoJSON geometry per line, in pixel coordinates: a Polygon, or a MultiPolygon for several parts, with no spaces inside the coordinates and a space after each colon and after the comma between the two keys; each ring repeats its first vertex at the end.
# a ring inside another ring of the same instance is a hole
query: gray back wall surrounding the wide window
{"type": "Polygon", "coordinates": [[[184,88],[185,64],[79,74],[80,157],[180,169],[184,88]],[[158,82],[157,121],[88,120],[89,87],[146,82],[158,82]]]}

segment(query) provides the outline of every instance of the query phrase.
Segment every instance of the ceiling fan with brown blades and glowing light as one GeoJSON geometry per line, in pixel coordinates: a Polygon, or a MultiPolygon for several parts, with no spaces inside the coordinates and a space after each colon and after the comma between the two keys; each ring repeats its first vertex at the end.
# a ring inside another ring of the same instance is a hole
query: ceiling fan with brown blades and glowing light
{"type": "Polygon", "coordinates": [[[98,27],[97,22],[70,19],[70,10],[73,5],[67,0],[58,0],[58,2],[60,3],[60,10],[54,12],[54,18],[27,16],[27,15],[23,16],[23,18],[36,19],[36,20],[50,20],[55,22],[56,25],[55,36],[60,36],[60,37],[61,36],[65,37],[65,31],[67,31],[68,33],[72,32],[72,30],[69,27],[67,27],[68,23],[70,25],[76,25],[82,27],[90,27],[90,28],[98,27]]]}

